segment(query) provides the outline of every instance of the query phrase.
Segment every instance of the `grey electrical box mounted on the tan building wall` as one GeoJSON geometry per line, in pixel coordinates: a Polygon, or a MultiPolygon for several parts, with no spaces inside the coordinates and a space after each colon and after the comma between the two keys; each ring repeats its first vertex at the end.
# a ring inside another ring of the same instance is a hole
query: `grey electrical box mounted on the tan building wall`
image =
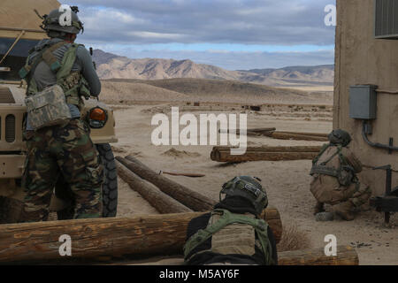
{"type": "Polygon", "coordinates": [[[373,85],[349,87],[349,118],[376,119],[377,88],[373,85]]]}

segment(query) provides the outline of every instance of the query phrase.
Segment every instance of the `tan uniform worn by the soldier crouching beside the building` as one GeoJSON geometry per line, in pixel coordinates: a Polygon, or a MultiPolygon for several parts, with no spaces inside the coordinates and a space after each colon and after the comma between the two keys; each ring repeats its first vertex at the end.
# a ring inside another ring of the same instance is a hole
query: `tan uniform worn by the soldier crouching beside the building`
{"type": "MultiPolygon", "coordinates": [[[[325,152],[321,154],[317,164],[327,162],[327,167],[338,169],[341,166],[339,155],[336,154],[338,146],[330,145],[325,152]]],[[[341,155],[345,158],[348,165],[354,169],[355,173],[362,171],[361,162],[355,157],[353,152],[346,147],[341,147],[341,155]]],[[[370,187],[362,184],[354,176],[353,181],[348,185],[341,185],[341,182],[335,176],[314,173],[313,180],[310,183],[310,191],[318,201],[315,213],[323,210],[323,204],[333,205],[336,212],[342,212],[343,218],[352,218],[350,210],[359,208],[366,203],[371,196],[370,187]]],[[[341,213],[339,213],[341,214],[341,213]]]]}

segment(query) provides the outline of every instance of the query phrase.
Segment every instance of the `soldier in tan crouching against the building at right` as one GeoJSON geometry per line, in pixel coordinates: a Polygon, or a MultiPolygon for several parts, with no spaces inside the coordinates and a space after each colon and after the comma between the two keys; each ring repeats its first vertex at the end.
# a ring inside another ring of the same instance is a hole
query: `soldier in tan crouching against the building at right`
{"type": "MultiPolygon", "coordinates": [[[[356,173],[362,171],[362,164],[347,148],[350,135],[337,129],[328,135],[328,139],[330,143],[325,144],[312,161],[310,191],[317,199],[314,214],[324,212],[324,203],[328,203],[341,218],[353,220],[353,210],[368,201],[371,189],[356,177],[356,173]]],[[[321,215],[318,214],[320,220],[323,219],[321,215]]],[[[327,218],[332,219],[333,213],[327,218]]]]}

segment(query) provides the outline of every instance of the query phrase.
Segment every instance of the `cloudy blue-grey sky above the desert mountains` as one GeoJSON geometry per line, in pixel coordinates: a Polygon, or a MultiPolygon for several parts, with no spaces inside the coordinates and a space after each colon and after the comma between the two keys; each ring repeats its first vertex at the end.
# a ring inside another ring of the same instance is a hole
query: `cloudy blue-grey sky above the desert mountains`
{"type": "Polygon", "coordinates": [[[59,2],[79,6],[78,42],[130,58],[191,59],[227,70],[334,62],[325,6],[335,0],[59,2]]]}

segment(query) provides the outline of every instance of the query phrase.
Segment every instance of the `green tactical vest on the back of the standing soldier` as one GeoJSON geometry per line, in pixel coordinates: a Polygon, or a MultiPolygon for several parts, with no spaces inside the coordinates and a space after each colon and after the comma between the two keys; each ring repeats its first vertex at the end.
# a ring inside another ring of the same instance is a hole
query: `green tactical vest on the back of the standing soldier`
{"type": "Polygon", "coordinates": [[[71,43],[71,47],[65,51],[64,57],[59,63],[52,52],[65,44],[68,44],[68,42],[47,44],[33,60],[31,60],[31,56],[27,57],[27,63],[20,69],[19,76],[21,79],[27,80],[27,96],[33,96],[39,91],[36,81],[33,79],[34,70],[37,65],[44,61],[51,71],[57,74],[57,85],[64,90],[66,103],[74,104],[81,109],[84,103],[80,96],[84,96],[86,99],[90,96],[88,81],[84,79],[80,72],[72,72],[72,67],[76,60],[76,51],[81,44],[71,43]],[[29,64],[29,61],[32,62],[29,64]]]}

